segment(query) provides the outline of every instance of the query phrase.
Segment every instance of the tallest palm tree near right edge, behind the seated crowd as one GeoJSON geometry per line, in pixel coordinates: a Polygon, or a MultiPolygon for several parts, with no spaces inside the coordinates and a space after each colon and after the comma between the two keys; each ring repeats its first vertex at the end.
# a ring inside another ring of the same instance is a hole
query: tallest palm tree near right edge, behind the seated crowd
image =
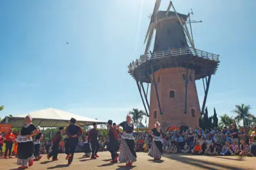
{"type": "Polygon", "coordinates": [[[249,110],[251,109],[250,105],[236,105],[236,109],[233,110],[232,112],[236,113],[237,116],[235,117],[235,120],[239,123],[241,120],[243,120],[243,125],[248,125],[249,123],[249,110]]]}

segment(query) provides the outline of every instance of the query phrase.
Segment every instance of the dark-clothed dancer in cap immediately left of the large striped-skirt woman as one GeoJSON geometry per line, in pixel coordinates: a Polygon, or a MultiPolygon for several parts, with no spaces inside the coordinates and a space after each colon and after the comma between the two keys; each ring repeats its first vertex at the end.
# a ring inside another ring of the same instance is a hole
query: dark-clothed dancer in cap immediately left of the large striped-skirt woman
{"type": "Polygon", "coordinates": [[[108,151],[111,153],[112,160],[110,161],[112,164],[117,163],[117,159],[119,157],[119,154],[117,153],[119,148],[118,143],[118,134],[116,130],[112,127],[112,120],[108,120],[108,138],[109,142],[107,145],[108,151]]]}

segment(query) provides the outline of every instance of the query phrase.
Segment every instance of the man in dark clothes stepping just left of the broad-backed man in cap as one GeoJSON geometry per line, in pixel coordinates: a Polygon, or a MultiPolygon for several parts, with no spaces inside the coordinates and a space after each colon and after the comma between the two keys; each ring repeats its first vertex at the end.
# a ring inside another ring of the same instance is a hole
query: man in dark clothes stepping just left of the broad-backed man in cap
{"type": "Polygon", "coordinates": [[[58,160],[58,153],[60,147],[60,141],[62,138],[64,127],[59,127],[59,131],[56,132],[54,138],[52,138],[52,152],[47,154],[47,159],[49,160],[52,157],[52,161],[58,160]]]}

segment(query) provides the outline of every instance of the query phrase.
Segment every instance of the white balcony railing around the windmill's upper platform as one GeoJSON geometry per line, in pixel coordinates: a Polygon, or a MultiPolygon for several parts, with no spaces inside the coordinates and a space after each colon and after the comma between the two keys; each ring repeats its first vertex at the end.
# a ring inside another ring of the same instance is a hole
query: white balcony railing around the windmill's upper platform
{"type": "Polygon", "coordinates": [[[204,52],[202,50],[193,50],[193,48],[180,48],[177,50],[167,50],[163,52],[155,52],[155,53],[148,53],[147,55],[141,55],[140,59],[136,61],[132,61],[132,63],[128,66],[129,72],[131,72],[135,67],[140,66],[143,62],[146,62],[147,60],[153,60],[153,59],[161,59],[166,57],[173,57],[173,56],[179,56],[179,55],[188,55],[193,54],[197,57],[202,57],[204,59],[214,60],[216,62],[219,62],[219,56],[214,53],[204,52]]]}

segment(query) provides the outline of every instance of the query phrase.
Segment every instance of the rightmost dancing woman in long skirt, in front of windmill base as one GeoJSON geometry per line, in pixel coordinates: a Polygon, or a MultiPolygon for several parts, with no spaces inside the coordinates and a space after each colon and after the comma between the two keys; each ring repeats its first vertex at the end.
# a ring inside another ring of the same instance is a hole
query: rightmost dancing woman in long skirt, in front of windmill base
{"type": "Polygon", "coordinates": [[[160,129],[159,122],[156,122],[155,128],[149,131],[153,138],[152,146],[148,152],[148,156],[154,158],[154,160],[160,160],[163,153],[163,144],[161,141],[162,131],[160,129]]]}

